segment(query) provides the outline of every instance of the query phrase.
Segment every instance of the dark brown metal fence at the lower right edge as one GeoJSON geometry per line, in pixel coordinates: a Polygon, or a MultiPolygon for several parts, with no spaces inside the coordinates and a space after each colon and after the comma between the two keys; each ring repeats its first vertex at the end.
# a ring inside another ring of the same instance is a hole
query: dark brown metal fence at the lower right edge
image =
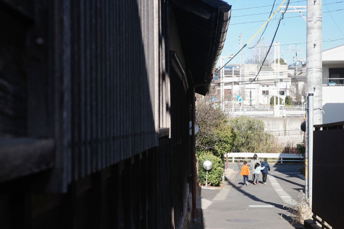
{"type": "Polygon", "coordinates": [[[314,125],[312,211],[333,228],[342,228],[344,122],[314,125]]]}

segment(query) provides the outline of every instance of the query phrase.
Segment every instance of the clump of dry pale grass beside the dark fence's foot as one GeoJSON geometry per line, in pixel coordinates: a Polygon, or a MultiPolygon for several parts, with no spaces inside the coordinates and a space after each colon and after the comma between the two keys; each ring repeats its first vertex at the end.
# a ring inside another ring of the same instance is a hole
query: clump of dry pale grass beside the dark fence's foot
{"type": "Polygon", "coordinates": [[[302,193],[302,197],[299,196],[299,203],[292,207],[284,205],[288,208],[288,210],[286,211],[289,211],[289,213],[291,213],[290,216],[293,219],[292,224],[303,224],[303,221],[305,219],[312,219],[313,216],[312,208],[309,206],[309,200],[307,196],[302,192],[302,190],[300,190],[300,192],[302,193]]]}

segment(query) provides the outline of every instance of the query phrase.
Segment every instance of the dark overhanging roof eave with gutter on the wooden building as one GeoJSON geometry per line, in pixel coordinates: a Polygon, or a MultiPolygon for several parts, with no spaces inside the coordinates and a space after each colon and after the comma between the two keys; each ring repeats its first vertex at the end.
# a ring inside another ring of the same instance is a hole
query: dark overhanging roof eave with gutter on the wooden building
{"type": "MultiPolygon", "coordinates": [[[[186,68],[194,84],[213,78],[230,20],[231,5],[221,0],[175,0],[173,11],[178,26],[186,68]]],[[[205,95],[208,86],[197,87],[205,95]]]]}

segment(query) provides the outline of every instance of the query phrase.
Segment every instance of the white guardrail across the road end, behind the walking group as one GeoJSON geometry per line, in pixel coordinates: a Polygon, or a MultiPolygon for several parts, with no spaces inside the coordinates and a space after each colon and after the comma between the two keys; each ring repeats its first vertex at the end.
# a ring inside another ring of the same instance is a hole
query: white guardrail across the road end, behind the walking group
{"type": "MultiPolygon", "coordinates": [[[[257,154],[258,159],[262,161],[264,158],[276,158],[276,159],[268,159],[268,161],[304,161],[304,158],[298,153],[228,153],[228,161],[247,161],[250,162],[253,155],[257,154]],[[238,159],[238,158],[249,158],[249,159],[238,159]],[[280,158],[280,160],[278,160],[280,158]],[[286,159],[300,159],[300,160],[286,160],[286,159]]],[[[225,154],[225,161],[226,161],[226,154],[225,154]]]]}

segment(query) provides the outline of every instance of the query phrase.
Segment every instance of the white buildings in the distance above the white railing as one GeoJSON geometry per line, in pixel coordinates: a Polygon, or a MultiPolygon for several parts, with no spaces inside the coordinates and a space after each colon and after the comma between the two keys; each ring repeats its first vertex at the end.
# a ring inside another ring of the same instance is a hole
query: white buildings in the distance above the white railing
{"type": "Polygon", "coordinates": [[[257,64],[244,64],[241,69],[236,65],[225,67],[223,76],[225,106],[239,105],[237,95],[243,99],[241,105],[268,105],[274,95],[282,98],[284,104],[286,96],[290,95],[291,87],[288,65],[272,64],[270,67],[262,67],[255,79],[258,71],[257,64]]]}

